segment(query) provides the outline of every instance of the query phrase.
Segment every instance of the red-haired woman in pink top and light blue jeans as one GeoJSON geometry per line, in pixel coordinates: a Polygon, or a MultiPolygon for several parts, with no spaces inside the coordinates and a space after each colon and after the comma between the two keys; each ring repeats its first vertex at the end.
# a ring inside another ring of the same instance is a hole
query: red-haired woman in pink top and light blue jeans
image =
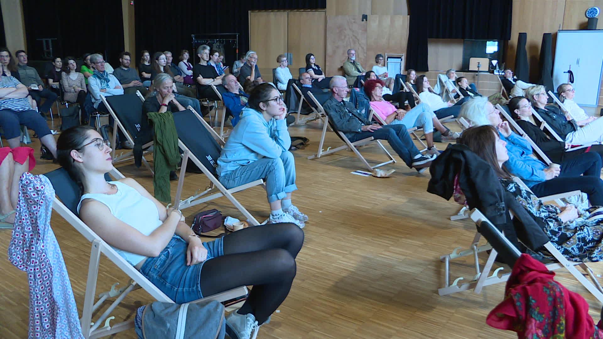
{"type": "Polygon", "coordinates": [[[427,142],[427,154],[439,155],[440,152],[434,145],[434,127],[442,133],[442,142],[454,141],[450,130],[438,120],[434,111],[428,104],[418,104],[408,112],[403,109],[397,109],[396,106],[386,101],[382,97],[382,89],[385,83],[380,80],[367,80],[364,83],[364,91],[370,97],[371,109],[385,121],[386,124],[403,124],[406,128],[421,127],[425,131],[425,141],[427,142]]]}

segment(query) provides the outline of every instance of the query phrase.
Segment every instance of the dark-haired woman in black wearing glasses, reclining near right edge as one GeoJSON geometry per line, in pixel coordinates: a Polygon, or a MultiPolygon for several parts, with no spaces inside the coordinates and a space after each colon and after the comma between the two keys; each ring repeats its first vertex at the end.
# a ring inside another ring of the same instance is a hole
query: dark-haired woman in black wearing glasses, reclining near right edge
{"type": "Polygon", "coordinates": [[[578,148],[577,150],[567,151],[570,144],[563,141],[557,141],[549,138],[548,135],[531,121],[532,104],[525,97],[514,97],[507,104],[511,116],[517,122],[517,125],[529,136],[532,141],[542,150],[546,156],[554,163],[561,163],[564,160],[572,159],[579,154],[586,152],[596,152],[603,156],[603,145],[592,145],[589,148],[578,148]]]}

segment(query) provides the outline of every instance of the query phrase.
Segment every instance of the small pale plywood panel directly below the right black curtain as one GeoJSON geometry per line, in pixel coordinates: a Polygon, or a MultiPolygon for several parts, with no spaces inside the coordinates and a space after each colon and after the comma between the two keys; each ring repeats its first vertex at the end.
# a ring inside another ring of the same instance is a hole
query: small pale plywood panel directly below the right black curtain
{"type": "Polygon", "coordinates": [[[428,39],[427,54],[429,69],[434,71],[461,69],[463,39],[428,39]]]}

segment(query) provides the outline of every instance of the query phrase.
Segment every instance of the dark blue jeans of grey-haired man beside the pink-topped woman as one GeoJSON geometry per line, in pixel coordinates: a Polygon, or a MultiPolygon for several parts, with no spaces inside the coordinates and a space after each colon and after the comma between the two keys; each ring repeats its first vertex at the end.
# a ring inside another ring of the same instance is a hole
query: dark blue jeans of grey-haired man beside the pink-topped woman
{"type": "Polygon", "coordinates": [[[412,158],[417,154],[421,154],[414,145],[414,142],[412,142],[411,136],[406,130],[406,126],[402,124],[385,125],[374,132],[363,131],[354,133],[354,135],[348,137],[348,139],[350,139],[351,142],[355,142],[370,138],[371,136],[374,139],[387,140],[390,143],[391,148],[393,148],[396,154],[402,158],[402,161],[406,163],[406,166],[411,167],[412,158]]]}

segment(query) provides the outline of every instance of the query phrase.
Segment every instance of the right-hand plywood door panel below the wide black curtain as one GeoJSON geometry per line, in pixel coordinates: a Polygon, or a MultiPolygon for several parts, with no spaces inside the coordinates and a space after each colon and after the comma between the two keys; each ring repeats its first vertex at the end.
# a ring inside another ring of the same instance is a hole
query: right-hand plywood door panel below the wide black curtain
{"type": "MultiPolygon", "coordinates": [[[[287,51],[292,54],[289,69],[293,77],[297,77],[298,68],[306,66],[306,54],[308,53],[314,54],[317,65],[324,69],[325,29],[325,11],[289,12],[287,51]]],[[[276,62],[276,58],[274,62],[276,62]]]]}

